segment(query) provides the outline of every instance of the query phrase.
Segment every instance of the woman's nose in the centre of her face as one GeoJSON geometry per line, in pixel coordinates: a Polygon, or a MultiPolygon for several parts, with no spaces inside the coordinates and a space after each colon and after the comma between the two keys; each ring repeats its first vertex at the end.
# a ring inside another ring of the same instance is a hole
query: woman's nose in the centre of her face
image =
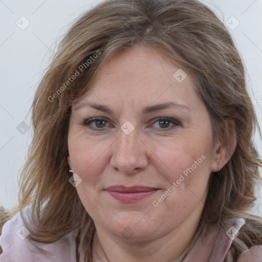
{"type": "Polygon", "coordinates": [[[134,130],[126,135],[120,130],[119,138],[112,145],[111,167],[125,174],[133,174],[148,165],[148,148],[134,130]]]}

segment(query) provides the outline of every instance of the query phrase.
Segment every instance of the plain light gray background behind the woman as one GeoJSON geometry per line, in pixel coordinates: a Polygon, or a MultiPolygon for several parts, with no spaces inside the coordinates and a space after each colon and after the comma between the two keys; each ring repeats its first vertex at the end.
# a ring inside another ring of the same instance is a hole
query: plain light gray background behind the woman
{"type": "MultiPolygon", "coordinates": [[[[77,16],[98,2],[101,1],[0,0],[0,206],[10,209],[17,204],[17,178],[33,136],[30,115],[26,115],[37,83],[53,55],[54,43],[77,16]],[[30,22],[25,30],[16,25],[21,16],[30,22]],[[24,135],[16,128],[22,121],[29,125],[24,135]]],[[[248,89],[261,125],[262,0],[202,2],[231,28],[240,23],[229,30],[243,57],[248,89]]],[[[257,133],[255,143],[261,156],[262,143],[257,133]]],[[[257,191],[257,195],[261,192],[257,191]]],[[[262,215],[261,204],[260,197],[252,212],[262,215]]]]}

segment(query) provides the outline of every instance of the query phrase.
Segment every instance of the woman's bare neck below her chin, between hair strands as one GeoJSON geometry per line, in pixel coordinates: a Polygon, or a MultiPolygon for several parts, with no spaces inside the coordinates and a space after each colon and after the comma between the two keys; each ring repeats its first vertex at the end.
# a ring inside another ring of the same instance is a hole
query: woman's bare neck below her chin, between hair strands
{"type": "Polygon", "coordinates": [[[194,226],[192,221],[185,221],[166,235],[143,242],[139,239],[120,239],[97,227],[93,240],[93,261],[163,261],[164,254],[166,262],[181,262],[192,247],[198,225],[199,221],[194,226]]]}

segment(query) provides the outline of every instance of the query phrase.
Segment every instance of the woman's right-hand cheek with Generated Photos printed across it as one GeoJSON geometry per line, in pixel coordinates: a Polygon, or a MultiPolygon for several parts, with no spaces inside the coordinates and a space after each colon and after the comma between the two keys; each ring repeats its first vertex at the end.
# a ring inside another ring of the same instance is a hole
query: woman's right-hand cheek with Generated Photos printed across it
{"type": "Polygon", "coordinates": [[[159,144],[152,146],[161,160],[158,160],[156,169],[165,181],[165,188],[154,199],[154,210],[158,213],[158,219],[173,221],[171,226],[177,226],[197,206],[204,206],[210,174],[208,151],[199,144],[182,139],[172,143],[172,146],[169,143],[163,147],[159,144]]]}

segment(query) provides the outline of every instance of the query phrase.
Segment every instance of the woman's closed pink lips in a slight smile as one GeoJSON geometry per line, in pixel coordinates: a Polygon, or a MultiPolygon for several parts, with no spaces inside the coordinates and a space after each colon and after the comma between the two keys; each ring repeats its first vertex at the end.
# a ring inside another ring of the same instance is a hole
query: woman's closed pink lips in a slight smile
{"type": "Polygon", "coordinates": [[[111,186],[105,190],[115,199],[122,202],[136,202],[148,198],[154,194],[159,188],[144,186],[111,186]]]}

